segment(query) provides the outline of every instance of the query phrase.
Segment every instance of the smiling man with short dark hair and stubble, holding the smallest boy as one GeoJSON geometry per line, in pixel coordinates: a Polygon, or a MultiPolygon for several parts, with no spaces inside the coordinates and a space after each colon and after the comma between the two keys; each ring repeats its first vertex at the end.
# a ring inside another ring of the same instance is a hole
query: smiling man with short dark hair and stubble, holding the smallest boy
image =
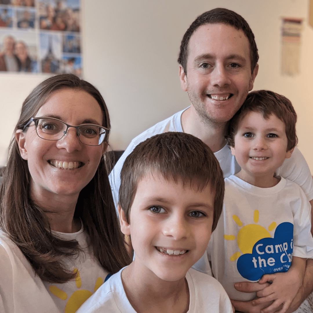
{"type": "MultiPolygon", "coordinates": [[[[187,91],[191,106],[157,123],[137,136],[110,174],[115,203],[118,202],[120,171],[126,156],[146,138],[166,131],[183,131],[200,138],[217,157],[224,177],[239,172],[224,138],[227,122],[252,90],[258,73],[258,50],[248,23],[239,14],[216,8],[200,15],[185,33],[178,58],[182,90],[187,91]]],[[[296,148],[292,157],[276,171],[277,175],[298,183],[313,204],[310,170],[296,148]]],[[[313,262],[308,260],[305,288],[290,306],[295,310],[313,289],[313,262]]],[[[243,283],[240,291],[262,290],[264,285],[243,283]]],[[[262,295],[260,291],[259,296],[262,295]]],[[[257,312],[252,301],[233,301],[236,310],[257,312]]],[[[267,304],[266,306],[268,306],[267,304]]]]}

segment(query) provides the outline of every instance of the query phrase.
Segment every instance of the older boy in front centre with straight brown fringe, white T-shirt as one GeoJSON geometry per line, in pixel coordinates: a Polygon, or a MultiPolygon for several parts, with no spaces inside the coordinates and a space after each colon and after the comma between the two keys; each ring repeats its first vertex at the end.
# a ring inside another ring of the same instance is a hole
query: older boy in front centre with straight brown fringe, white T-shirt
{"type": "Polygon", "coordinates": [[[167,132],[136,146],[121,171],[118,206],[135,259],[77,312],[233,312],[218,281],[190,269],[217,225],[223,193],[222,170],[200,139],[167,132]]]}

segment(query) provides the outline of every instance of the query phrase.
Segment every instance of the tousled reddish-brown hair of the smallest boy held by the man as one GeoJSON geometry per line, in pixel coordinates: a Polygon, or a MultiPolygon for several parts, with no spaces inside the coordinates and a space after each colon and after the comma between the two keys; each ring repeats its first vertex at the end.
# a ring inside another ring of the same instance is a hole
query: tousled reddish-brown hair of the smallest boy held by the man
{"type": "Polygon", "coordinates": [[[239,122],[248,112],[261,113],[264,119],[274,114],[285,123],[285,131],[288,140],[287,151],[294,148],[298,143],[295,131],[297,114],[291,102],[286,97],[269,90],[256,90],[248,94],[244,104],[228,123],[226,140],[229,146],[234,147],[234,137],[238,130],[239,122]]]}

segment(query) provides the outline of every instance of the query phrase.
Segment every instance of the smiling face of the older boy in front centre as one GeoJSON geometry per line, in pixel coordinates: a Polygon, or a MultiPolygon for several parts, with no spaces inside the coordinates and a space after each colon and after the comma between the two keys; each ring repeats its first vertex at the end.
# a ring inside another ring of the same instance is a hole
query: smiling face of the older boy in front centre
{"type": "Polygon", "coordinates": [[[166,180],[149,174],[137,186],[130,210],[130,224],[121,230],[131,234],[134,266],[141,279],[184,279],[201,258],[211,237],[214,194],[210,186],[166,180]]]}

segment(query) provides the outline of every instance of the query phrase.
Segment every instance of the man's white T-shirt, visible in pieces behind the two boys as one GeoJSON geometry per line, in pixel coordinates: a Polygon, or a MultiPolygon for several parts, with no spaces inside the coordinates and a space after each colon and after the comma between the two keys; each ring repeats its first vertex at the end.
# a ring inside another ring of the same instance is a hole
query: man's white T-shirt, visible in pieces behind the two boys
{"type": "MultiPolygon", "coordinates": [[[[140,142],[146,140],[147,138],[157,134],[162,134],[167,131],[182,132],[181,116],[182,112],[185,110],[177,112],[166,120],[150,127],[131,141],[109,175],[113,199],[116,207],[118,203],[118,192],[121,185],[120,174],[126,157],[140,142]]],[[[236,158],[231,154],[228,145],[225,145],[221,150],[215,152],[214,155],[218,159],[218,162],[222,168],[224,178],[237,174],[240,171],[241,168],[236,162],[236,158]]],[[[295,147],[291,157],[289,159],[285,159],[283,165],[276,170],[276,175],[296,182],[303,189],[307,198],[309,200],[313,199],[313,180],[310,169],[297,147],[295,147]]]]}

